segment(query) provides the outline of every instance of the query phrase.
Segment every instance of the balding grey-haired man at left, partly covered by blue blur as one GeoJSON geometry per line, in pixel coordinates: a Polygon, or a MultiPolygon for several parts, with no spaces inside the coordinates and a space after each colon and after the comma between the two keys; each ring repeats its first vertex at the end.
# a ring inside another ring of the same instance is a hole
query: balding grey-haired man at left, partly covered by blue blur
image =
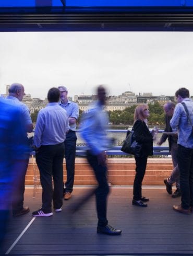
{"type": "MultiPolygon", "coordinates": [[[[23,207],[24,192],[25,192],[25,177],[29,163],[29,147],[27,132],[33,131],[33,123],[31,121],[29,108],[22,103],[23,96],[25,96],[25,89],[22,84],[14,83],[9,87],[9,95],[6,97],[6,101],[19,107],[22,113],[22,122],[26,130],[26,149],[25,152],[18,154],[18,159],[14,162],[15,172],[15,185],[13,193],[13,216],[17,217],[26,214],[30,211],[28,206],[23,207]],[[23,153],[23,154],[22,154],[23,153]]],[[[22,147],[23,148],[23,147],[22,147]]]]}

